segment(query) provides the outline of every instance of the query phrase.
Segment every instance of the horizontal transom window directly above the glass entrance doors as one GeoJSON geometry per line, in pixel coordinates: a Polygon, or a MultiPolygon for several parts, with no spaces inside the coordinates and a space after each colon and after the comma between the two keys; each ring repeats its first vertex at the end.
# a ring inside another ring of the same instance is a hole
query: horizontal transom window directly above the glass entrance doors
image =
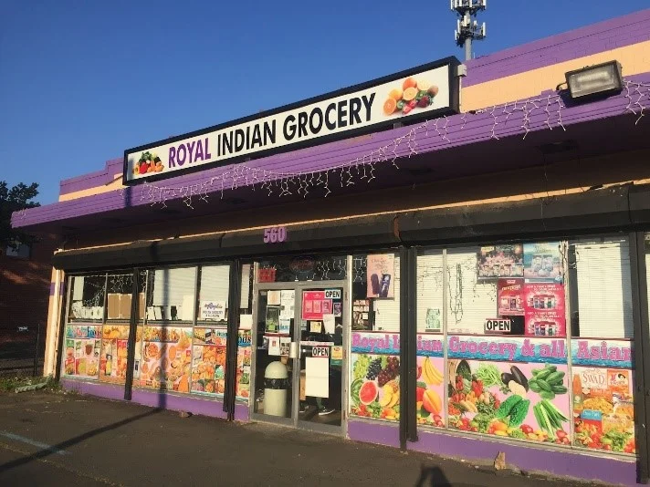
{"type": "Polygon", "coordinates": [[[340,281],[346,277],[345,255],[298,255],[274,257],[258,264],[259,283],[340,281]]]}

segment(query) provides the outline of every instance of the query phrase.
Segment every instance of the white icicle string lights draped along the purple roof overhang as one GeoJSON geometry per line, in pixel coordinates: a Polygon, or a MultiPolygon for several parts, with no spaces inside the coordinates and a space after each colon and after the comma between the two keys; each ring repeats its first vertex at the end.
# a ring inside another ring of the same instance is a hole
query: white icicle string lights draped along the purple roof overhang
{"type": "MultiPolygon", "coordinates": [[[[638,125],[650,107],[650,83],[625,79],[622,95],[627,100],[624,113],[636,116],[634,124],[638,125]]],[[[533,130],[533,119],[535,125],[540,123],[540,115],[543,117],[541,124],[548,130],[560,128],[566,131],[562,120],[562,110],[565,108],[561,93],[556,91],[546,97],[529,98],[464,112],[452,123],[447,117],[426,120],[379,148],[330,167],[311,171],[274,171],[239,163],[229,166],[216,176],[193,184],[168,186],[144,182],[140,186],[140,202],[149,203],[152,207],[166,208],[167,202],[180,199],[187,208],[194,210],[196,202],[208,203],[211,193],[218,193],[220,199],[224,200],[225,192],[239,187],[266,192],[269,197],[274,194],[280,198],[298,194],[306,199],[309,194],[320,192],[327,198],[337,184],[346,188],[355,184],[372,183],[376,179],[377,164],[390,162],[393,169],[399,170],[399,159],[411,158],[417,155],[419,150],[431,149],[436,145],[451,145],[453,142],[449,139],[450,135],[467,130],[469,124],[475,120],[484,123],[486,114],[491,123],[490,139],[500,140],[501,137],[510,135],[511,130],[506,130],[508,123],[511,128],[515,116],[520,115],[520,119],[514,123],[519,123],[525,140],[533,130]],[[481,119],[477,119],[479,115],[482,116],[481,119]]],[[[116,191],[122,198],[126,198],[127,191],[135,190],[120,188],[116,191]]],[[[25,218],[26,210],[17,212],[17,217],[25,218]]]]}

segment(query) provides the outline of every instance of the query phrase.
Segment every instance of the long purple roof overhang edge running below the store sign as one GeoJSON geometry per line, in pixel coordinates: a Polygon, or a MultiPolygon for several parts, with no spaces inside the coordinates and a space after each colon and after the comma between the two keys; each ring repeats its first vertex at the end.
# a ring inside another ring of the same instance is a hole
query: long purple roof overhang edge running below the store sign
{"type": "MultiPolygon", "coordinates": [[[[633,81],[649,82],[650,73],[627,78],[633,81]]],[[[542,94],[538,99],[544,100],[552,97],[551,93],[542,94]]],[[[518,106],[521,107],[526,100],[518,100],[518,106]]],[[[613,96],[601,101],[596,101],[584,105],[565,107],[561,110],[561,121],[567,130],[571,130],[571,125],[612,117],[626,117],[632,119],[625,108],[628,106],[629,98],[625,97],[625,91],[620,95],[613,96]]],[[[514,107],[514,101],[512,106],[514,107]]],[[[540,132],[549,130],[549,127],[555,130],[561,130],[556,117],[549,117],[544,110],[544,102],[540,101],[540,108],[529,113],[529,132],[540,132]],[[549,125],[550,124],[550,125],[549,125]]],[[[550,107],[552,112],[552,107],[550,107]]],[[[521,111],[514,112],[510,116],[502,113],[492,114],[490,109],[477,112],[476,114],[459,114],[448,117],[446,123],[446,135],[442,136],[442,123],[438,122],[438,130],[435,130],[433,122],[430,123],[428,130],[424,128],[418,134],[418,153],[420,155],[433,154],[439,150],[449,150],[487,142],[495,137],[504,139],[513,136],[522,136],[526,133],[523,127],[524,114],[521,111]],[[494,117],[493,117],[494,115],[494,117]],[[498,125],[494,126],[495,117],[498,125]]],[[[332,167],[339,166],[343,163],[349,163],[355,159],[360,159],[370,154],[373,150],[379,150],[386,144],[392,143],[395,139],[404,137],[409,133],[411,128],[400,128],[387,130],[380,133],[372,134],[362,140],[341,140],[330,144],[320,145],[305,150],[296,150],[289,153],[278,154],[259,160],[249,161],[246,166],[258,171],[273,171],[269,173],[268,180],[281,178],[283,172],[302,172],[309,173],[313,171],[329,170],[332,167]]],[[[631,129],[634,130],[634,123],[631,129]]],[[[638,129],[637,129],[638,130],[638,129]]],[[[556,132],[557,133],[557,132],[556,132]]],[[[564,136],[561,136],[564,137],[564,136]]],[[[405,140],[405,139],[404,139],[405,140]]],[[[400,144],[396,150],[399,156],[408,156],[409,148],[406,142],[400,144]]],[[[377,164],[390,165],[391,161],[378,162],[377,164]]],[[[431,161],[435,169],[435,160],[431,161]]],[[[201,185],[212,178],[220,178],[224,174],[232,174],[234,166],[225,166],[205,171],[199,171],[192,174],[185,174],[167,181],[157,183],[157,186],[185,186],[201,185]]],[[[459,168],[467,171],[467,168],[459,168]]],[[[515,169],[515,168],[512,168],[515,169]]],[[[483,161],[477,161],[474,166],[475,173],[484,173],[486,171],[483,161]]],[[[243,180],[243,177],[240,178],[243,180]]],[[[248,181],[248,186],[253,182],[248,181]]],[[[246,181],[238,181],[238,187],[245,187],[246,181]]],[[[225,186],[224,191],[229,191],[225,186]]],[[[60,222],[85,215],[100,214],[103,212],[121,211],[130,207],[146,207],[151,204],[150,200],[143,198],[145,189],[142,185],[131,186],[124,192],[105,192],[86,198],[79,198],[68,202],[56,202],[26,210],[26,212],[14,213],[12,216],[12,225],[21,227],[34,227],[39,224],[49,222],[60,222]]],[[[217,181],[208,188],[208,193],[218,194],[221,192],[220,183],[217,181]]],[[[172,198],[169,198],[170,200],[172,198]]],[[[182,199],[180,196],[177,199],[182,199]]]]}

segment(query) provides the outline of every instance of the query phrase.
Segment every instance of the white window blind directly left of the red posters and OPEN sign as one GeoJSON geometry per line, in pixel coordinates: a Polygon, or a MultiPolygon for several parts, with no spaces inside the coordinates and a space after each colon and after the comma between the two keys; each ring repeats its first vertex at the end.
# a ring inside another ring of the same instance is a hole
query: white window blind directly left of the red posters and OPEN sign
{"type": "Polygon", "coordinates": [[[447,252],[447,331],[483,334],[486,318],[498,316],[496,281],[477,280],[478,247],[447,252]]]}

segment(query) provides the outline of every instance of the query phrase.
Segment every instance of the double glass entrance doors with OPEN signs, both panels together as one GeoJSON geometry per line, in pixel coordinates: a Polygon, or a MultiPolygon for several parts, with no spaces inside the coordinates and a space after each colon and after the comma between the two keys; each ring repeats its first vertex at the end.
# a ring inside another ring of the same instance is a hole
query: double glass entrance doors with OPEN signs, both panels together
{"type": "Polygon", "coordinates": [[[345,281],[257,286],[251,418],[340,434],[345,281]]]}

